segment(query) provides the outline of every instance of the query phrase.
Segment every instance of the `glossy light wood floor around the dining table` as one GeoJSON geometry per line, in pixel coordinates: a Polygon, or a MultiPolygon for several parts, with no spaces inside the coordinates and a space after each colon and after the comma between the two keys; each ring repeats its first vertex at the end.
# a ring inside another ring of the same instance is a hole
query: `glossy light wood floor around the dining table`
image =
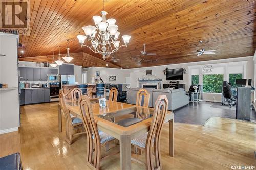
{"type": "MultiPolygon", "coordinates": [[[[25,170],[89,169],[86,138],[81,136],[69,146],[63,140],[65,132],[58,132],[57,103],[22,107],[21,123],[19,132],[0,135],[0,157],[20,152],[25,170]]],[[[174,158],[168,156],[167,130],[168,124],[161,138],[164,169],[256,166],[256,124],[226,118],[210,118],[204,126],[175,123],[174,158]]],[[[119,169],[119,162],[119,155],[111,156],[101,161],[101,169],[119,169]]],[[[145,167],[132,162],[132,169],[145,167]]]]}

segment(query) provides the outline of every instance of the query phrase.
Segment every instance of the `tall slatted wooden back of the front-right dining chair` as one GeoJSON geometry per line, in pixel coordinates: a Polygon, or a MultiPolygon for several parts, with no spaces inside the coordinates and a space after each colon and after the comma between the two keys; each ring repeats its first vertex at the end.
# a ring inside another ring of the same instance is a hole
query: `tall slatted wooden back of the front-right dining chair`
{"type": "Polygon", "coordinates": [[[164,124],[165,115],[168,111],[168,99],[166,95],[159,95],[154,109],[153,120],[151,122],[150,130],[148,131],[146,140],[146,166],[147,169],[155,169],[152,159],[153,143],[155,145],[155,164],[157,169],[162,169],[161,154],[160,154],[160,137],[164,124]],[[154,141],[154,142],[153,142],[154,141]]]}

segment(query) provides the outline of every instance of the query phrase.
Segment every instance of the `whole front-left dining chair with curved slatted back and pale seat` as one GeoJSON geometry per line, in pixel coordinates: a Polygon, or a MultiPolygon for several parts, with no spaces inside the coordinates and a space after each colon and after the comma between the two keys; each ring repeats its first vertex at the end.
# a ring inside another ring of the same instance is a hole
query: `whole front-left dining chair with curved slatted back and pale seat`
{"type": "MultiPolygon", "coordinates": [[[[82,95],[78,101],[80,113],[87,133],[87,164],[93,169],[100,169],[100,160],[114,155],[119,152],[101,157],[101,147],[106,146],[109,142],[115,140],[114,137],[108,135],[97,128],[94,121],[92,105],[90,99],[86,95],[82,95]],[[93,158],[94,152],[94,158],[93,158]]],[[[106,150],[107,147],[106,147],[106,150]]]]}

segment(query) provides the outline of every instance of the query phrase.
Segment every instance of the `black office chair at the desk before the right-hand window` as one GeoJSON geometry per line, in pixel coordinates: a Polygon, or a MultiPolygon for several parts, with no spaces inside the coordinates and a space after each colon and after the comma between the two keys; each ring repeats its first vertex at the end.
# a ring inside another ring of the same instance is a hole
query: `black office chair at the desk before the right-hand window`
{"type": "Polygon", "coordinates": [[[233,95],[233,91],[231,90],[232,86],[230,86],[227,81],[223,81],[222,83],[222,94],[227,102],[221,102],[221,106],[223,105],[229,105],[229,107],[232,107],[232,105],[236,105],[234,102],[237,98],[236,95],[233,95]]]}

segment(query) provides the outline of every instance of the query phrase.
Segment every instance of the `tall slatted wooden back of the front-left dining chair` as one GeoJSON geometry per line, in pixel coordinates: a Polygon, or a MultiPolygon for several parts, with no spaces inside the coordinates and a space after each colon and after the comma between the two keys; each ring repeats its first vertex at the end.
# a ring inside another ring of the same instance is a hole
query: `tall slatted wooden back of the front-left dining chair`
{"type": "Polygon", "coordinates": [[[92,105],[90,99],[86,95],[82,95],[79,98],[78,104],[87,134],[87,161],[94,167],[97,167],[98,165],[96,165],[96,163],[100,160],[100,137],[97,125],[94,122],[92,105]],[[92,159],[93,149],[95,149],[95,152],[97,152],[94,154],[94,159],[92,159]]]}

